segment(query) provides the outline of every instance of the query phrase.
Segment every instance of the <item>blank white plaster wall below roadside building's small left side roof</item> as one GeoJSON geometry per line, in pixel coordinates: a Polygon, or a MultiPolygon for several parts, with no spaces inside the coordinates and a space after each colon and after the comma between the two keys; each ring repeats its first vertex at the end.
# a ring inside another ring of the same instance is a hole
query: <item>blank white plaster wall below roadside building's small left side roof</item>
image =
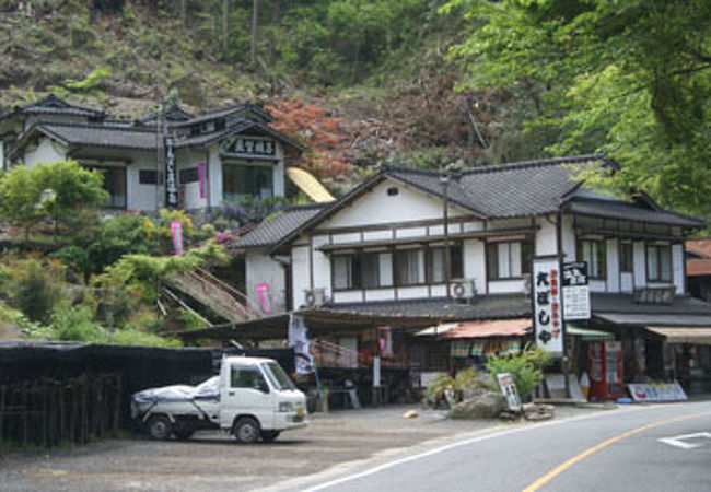
{"type": "Polygon", "coordinates": [[[266,250],[248,251],[245,255],[245,277],[246,294],[253,306],[261,306],[257,294],[257,283],[266,282],[269,284],[271,294],[272,313],[287,311],[284,269],[281,263],[271,259],[266,250]]]}

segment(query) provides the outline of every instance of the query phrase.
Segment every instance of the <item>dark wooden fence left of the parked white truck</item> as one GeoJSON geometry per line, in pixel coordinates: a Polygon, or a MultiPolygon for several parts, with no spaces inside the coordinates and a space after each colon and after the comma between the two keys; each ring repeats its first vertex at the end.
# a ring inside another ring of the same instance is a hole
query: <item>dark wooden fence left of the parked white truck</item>
{"type": "Polygon", "coordinates": [[[120,395],[118,374],[0,384],[0,445],[49,447],[116,436],[120,395]]]}

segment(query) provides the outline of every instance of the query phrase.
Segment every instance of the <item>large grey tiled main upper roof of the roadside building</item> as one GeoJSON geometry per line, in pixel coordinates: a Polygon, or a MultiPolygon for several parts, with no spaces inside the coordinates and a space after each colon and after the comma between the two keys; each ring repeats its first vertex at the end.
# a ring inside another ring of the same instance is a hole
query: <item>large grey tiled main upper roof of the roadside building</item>
{"type": "MultiPolygon", "coordinates": [[[[582,185],[580,179],[575,179],[578,167],[595,163],[609,165],[604,154],[588,154],[475,167],[450,175],[447,199],[481,219],[543,215],[568,210],[684,227],[703,226],[702,219],[663,210],[645,196],[630,202],[590,191],[576,196],[582,185]]],[[[438,171],[382,166],[377,175],[314,214],[272,249],[328,219],[387,178],[442,198],[442,176],[443,173],[438,171]]]]}

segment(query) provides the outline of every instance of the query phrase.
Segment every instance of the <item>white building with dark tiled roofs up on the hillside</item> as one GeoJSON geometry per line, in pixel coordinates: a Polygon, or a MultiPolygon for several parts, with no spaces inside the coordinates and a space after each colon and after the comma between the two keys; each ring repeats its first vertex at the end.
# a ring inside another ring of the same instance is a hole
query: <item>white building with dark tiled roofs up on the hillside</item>
{"type": "Polygon", "coordinates": [[[106,209],[206,210],[245,196],[285,192],[284,169],[301,145],[249,104],[194,116],[174,106],[158,118],[112,120],[54,95],[0,116],[0,162],[72,159],[100,169],[106,209]]]}

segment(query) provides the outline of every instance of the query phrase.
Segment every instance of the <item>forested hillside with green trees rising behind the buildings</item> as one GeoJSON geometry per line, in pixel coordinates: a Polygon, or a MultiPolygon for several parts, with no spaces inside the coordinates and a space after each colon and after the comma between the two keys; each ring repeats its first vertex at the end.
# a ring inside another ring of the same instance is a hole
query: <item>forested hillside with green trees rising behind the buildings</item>
{"type": "Polygon", "coordinates": [[[622,165],[619,189],[711,215],[704,0],[0,0],[0,10],[4,109],[47,92],[124,117],[171,90],[197,112],[256,99],[314,149],[304,165],[330,177],[378,162],[605,151],[622,165]]]}

